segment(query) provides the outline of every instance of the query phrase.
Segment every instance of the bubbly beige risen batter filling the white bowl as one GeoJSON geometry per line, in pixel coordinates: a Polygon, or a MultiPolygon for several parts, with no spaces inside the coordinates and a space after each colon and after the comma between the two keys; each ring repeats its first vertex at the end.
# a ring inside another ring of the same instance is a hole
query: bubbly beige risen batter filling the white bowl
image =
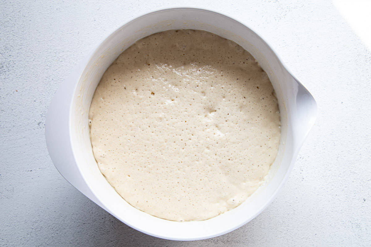
{"type": "Polygon", "coordinates": [[[242,47],[206,31],[165,31],[125,50],[104,73],[89,121],[107,181],[132,206],[175,221],[241,204],[280,140],[267,74],[242,47]]]}

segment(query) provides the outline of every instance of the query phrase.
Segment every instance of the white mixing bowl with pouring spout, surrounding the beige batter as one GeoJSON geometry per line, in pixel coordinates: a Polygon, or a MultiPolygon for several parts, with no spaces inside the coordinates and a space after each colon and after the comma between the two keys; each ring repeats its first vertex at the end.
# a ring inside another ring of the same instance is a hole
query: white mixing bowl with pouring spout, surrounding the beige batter
{"type": "Polygon", "coordinates": [[[288,179],[299,148],[315,121],[316,109],[315,100],[308,90],[251,29],[213,11],[175,8],[152,12],[130,21],[93,50],[56,92],[46,116],[45,136],[50,157],[60,174],[113,216],[152,236],[198,240],[243,226],[266,208],[288,179]],[[240,206],[204,221],[169,221],[132,207],[99,171],[90,142],[88,112],[102,74],[135,41],[169,29],[206,30],[235,41],[249,51],[267,72],[279,101],[281,141],[266,183],[240,206]]]}

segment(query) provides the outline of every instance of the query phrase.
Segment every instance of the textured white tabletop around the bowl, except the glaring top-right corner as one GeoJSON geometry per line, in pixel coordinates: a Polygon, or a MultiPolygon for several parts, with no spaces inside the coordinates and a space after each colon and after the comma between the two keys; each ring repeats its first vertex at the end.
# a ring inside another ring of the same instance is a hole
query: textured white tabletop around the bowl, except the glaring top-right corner
{"type": "Polygon", "coordinates": [[[318,103],[288,182],[250,223],[209,240],[163,240],[121,223],[60,176],[44,123],[63,79],[129,19],[184,4],[0,0],[0,246],[370,246],[371,52],[331,1],[186,3],[256,30],[318,103]]]}

